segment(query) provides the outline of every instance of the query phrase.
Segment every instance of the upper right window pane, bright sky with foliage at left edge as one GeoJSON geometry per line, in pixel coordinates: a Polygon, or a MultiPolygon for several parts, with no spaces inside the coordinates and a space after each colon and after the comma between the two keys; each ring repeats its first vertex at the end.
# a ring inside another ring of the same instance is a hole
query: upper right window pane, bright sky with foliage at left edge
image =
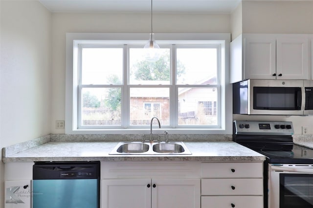
{"type": "Polygon", "coordinates": [[[217,84],[216,48],[178,48],[178,84],[217,84]]]}

